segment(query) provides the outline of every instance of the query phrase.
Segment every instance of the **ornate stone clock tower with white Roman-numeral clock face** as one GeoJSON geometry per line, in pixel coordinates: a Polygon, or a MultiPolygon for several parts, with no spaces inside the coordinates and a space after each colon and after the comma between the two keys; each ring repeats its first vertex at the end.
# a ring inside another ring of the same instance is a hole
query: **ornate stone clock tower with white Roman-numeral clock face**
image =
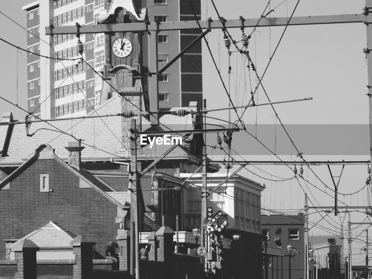
{"type": "MultiPolygon", "coordinates": [[[[108,11],[102,10],[101,24],[144,22],[146,9],[138,12],[132,0],[113,0],[108,11]]],[[[121,96],[121,111],[147,110],[148,97],[144,90],[142,67],[142,32],[110,32],[105,34],[105,65],[101,72],[104,82],[100,103],[112,96],[121,96]],[[106,82],[107,81],[107,82],[106,82]]],[[[141,118],[136,116],[138,131],[141,118]]],[[[131,119],[122,118],[122,144],[127,146],[131,119]]],[[[124,149],[123,149],[124,150],[124,149]]],[[[125,157],[130,157],[124,150],[125,157]]]]}

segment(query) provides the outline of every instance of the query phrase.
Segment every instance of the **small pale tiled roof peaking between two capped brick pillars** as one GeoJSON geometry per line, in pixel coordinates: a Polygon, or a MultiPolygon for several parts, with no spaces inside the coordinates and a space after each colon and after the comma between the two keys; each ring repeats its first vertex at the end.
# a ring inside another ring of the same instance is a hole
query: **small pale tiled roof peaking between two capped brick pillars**
{"type": "Polygon", "coordinates": [[[48,221],[38,230],[31,232],[21,239],[29,239],[39,247],[70,247],[70,241],[76,235],[48,221]]]}

